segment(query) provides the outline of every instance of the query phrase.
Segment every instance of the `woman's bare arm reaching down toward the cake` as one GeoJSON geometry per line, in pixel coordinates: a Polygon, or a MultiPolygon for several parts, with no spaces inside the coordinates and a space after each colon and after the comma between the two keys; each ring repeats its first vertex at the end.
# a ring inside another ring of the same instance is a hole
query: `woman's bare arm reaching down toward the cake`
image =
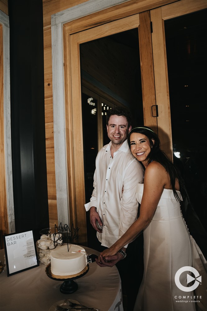
{"type": "MultiPolygon", "coordinates": [[[[104,250],[100,255],[106,261],[108,256],[115,255],[124,245],[130,243],[137,234],[140,233],[150,223],[154,212],[163,193],[163,188],[167,181],[167,172],[164,167],[156,161],[150,163],[145,170],[144,191],[140,206],[139,218],[129,227],[129,229],[110,248],[104,250]]],[[[99,256],[98,262],[101,262],[99,256]]],[[[104,262],[105,264],[105,262],[104,262]]]]}

